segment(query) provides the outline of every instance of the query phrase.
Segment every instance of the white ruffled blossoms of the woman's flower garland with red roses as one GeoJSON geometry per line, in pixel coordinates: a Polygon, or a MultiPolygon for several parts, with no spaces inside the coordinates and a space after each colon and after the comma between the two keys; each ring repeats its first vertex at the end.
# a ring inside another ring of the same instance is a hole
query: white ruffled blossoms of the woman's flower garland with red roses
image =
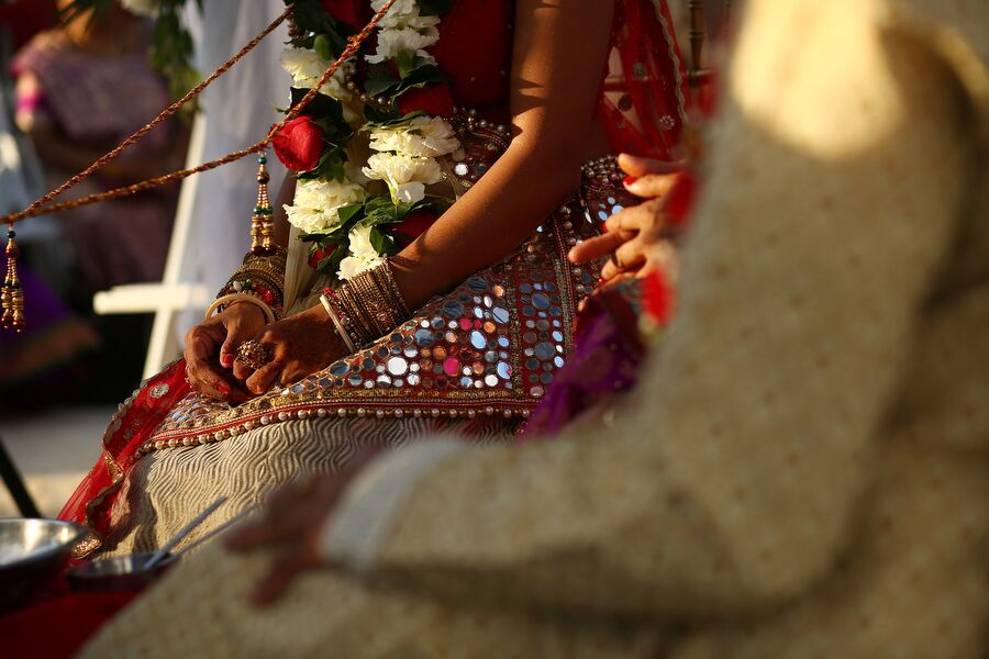
{"type": "MultiPolygon", "coordinates": [[[[137,0],[131,0],[132,2],[137,0]]],[[[373,0],[371,9],[379,11],[386,0],[373,0]]],[[[374,55],[367,55],[369,64],[379,64],[401,54],[414,55],[434,64],[435,59],[425,51],[440,41],[438,16],[423,16],[415,0],[399,0],[381,21],[378,31],[378,46],[374,55]]],[[[299,88],[312,88],[330,66],[314,49],[288,47],[281,55],[282,67],[292,76],[299,88]]],[[[354,122],[356,114],[346,111],[354,93],[347,89],[344,67],[327,85],[322,93],[344,104],[344,118],[354,122]]],[[[353,71],[353,66],[349,67],[353,71]]],[[[438,116],[415,116],[398,125],[378,127],[370,132],[370,148],[376,152],[367,158],[365,167],[358,171],[370,180],[385,181],[393,203],[415,203],[425,198],[425,187],[443,179],[437,158],[452,154],[460,144],[454,130],[438,116]]],[[[348,153],[351,163],[354,154],[348,153]]],[[[288,221],[307,234],[327,234],[340,226],[341,208],[362,202],[368,197],[363,178],[348,168],[345,180],[321,179],[300,180],[291,205],[286,205],[288,221]]],[[[379,254],[371,244],[373,226],[357,224],[347,238],[347,256],[342,259],[336,276],[351,279],[360,272],[380,265],[386,255],[379,254]]]]}

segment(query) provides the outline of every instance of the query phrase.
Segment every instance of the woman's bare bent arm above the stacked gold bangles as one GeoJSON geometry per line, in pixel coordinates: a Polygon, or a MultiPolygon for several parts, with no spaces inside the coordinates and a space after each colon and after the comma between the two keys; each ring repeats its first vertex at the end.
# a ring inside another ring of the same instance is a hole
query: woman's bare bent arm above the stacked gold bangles
{"type": "Polygon", "coordinates": [[[410,309],[519,246],[580,182],[613,3],[518,0],[514,137],[498,163],[392,260],[410,309]]]}

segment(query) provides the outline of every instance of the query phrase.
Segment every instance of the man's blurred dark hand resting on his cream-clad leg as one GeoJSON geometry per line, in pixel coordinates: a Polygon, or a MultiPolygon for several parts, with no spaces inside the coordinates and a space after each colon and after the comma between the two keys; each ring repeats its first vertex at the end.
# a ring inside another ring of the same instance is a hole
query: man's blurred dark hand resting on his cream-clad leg
{"type": "Polygon", "coordinates": [[[224,544],[233,551],[277,549],[268,573],[251,595],[252,602],[259,606],[270,604],[301,572],[330,565],[320,551],[320,534],[347,487],[382,450],[366,447],[336,473],[289,483],[271,495],[260,520],[226,537],[224,544]]]}

